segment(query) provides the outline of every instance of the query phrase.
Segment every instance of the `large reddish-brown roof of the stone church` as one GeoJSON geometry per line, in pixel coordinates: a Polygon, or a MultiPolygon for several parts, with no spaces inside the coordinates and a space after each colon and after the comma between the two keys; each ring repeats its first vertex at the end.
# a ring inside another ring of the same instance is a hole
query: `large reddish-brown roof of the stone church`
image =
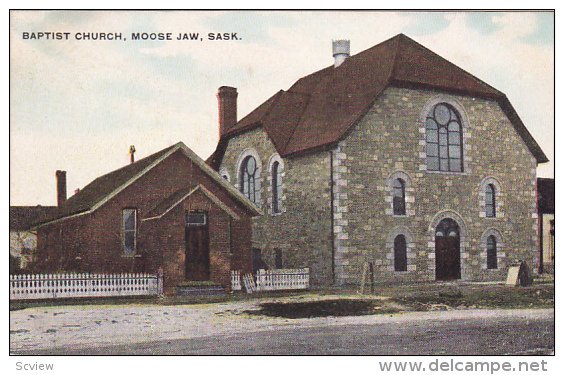
{"type": "Polygon", "coordinates": [[[387,87],[435,89],[496,100],[539,163],[548,159],[505,94],[404,34],[299,79],[229,129],[208,159],[218,167],[229,138],[262,126],[281,156],[331,147],[387,87]]]}

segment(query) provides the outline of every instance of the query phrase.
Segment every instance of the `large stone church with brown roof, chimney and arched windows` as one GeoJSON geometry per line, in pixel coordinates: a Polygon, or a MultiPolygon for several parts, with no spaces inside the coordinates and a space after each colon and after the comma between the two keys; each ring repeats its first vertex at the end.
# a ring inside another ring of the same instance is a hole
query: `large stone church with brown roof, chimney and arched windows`
{"type": "Polygon", "coordinates": [[[400,34],[300,78],[237,121],[218,92],[208,163],[263,212],[255,267],[315,285],[492,281],[538,262],[536,169],[548,159],[502,92],[400,34]]]}

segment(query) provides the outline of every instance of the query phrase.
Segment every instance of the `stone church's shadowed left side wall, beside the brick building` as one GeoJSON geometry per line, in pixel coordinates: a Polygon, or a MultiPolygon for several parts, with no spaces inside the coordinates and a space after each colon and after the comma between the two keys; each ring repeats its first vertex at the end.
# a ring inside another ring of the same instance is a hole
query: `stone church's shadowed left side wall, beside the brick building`
{"type": "Polygon", "coordinates": [[[278,157],[261,129],[229,140],[220,174],[239,187],[238,168],[245,155],[258,157],[260,165],[261,217],[253,218],[253,248],[260,249],[270,268],[276,251],[282,252],[284,268],[309,267],[314,285],[330,285],[332,277],[330,153],[293,158],[278,157]],[[282,166],[282,212],[272,212],[270,166],[282,166]]]}

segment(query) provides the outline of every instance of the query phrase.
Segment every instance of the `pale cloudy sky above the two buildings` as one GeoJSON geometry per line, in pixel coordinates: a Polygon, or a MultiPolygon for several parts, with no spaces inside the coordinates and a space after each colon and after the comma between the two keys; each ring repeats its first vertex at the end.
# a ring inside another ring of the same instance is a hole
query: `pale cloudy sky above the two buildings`
{"type": "Polygon", "coordinates": [[[207,158],[218,141],[217,88],[237,87],[239,119],[333,62],[331,41],[356,54],[404,33],[504,92],[551,160],[554,18],[547,12],[10,13],[10,204],[55,205],[55,171],[72,195],[96,177],[179,141],[207,158]],[[69,32],[69,40],[24,39],[69,32]],[[126,40],[75,40],[75,33],[126,40]],[[131,40],[199,33],[203,41],[131,40]],[[240,40],[210,41],[236,32],[240,40]]]}

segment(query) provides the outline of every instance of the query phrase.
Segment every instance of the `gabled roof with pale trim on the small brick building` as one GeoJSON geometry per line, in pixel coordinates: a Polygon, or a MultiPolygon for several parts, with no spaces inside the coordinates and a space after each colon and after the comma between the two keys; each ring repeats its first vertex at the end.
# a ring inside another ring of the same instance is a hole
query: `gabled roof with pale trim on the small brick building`
{"type": "Polygon", "coordinates": [[[217,174],[198,155],[190,150],[184,143],[167,147],[152,155],[117,169],[113,172],[98,177],[86,185],[78,193],[67,199],[63,205],[48,219],[41,222],[47,224],[71,216],[91,213],[117,195],[119,192],[141,178],[145,173],[160,164],[163,160],[177,151],[182,151],[194,164],[202,169],[217,184],[224,188],[236,201],[241,203],[253,215],[261,212],[243,194],[229,182],[217,174]]]}

